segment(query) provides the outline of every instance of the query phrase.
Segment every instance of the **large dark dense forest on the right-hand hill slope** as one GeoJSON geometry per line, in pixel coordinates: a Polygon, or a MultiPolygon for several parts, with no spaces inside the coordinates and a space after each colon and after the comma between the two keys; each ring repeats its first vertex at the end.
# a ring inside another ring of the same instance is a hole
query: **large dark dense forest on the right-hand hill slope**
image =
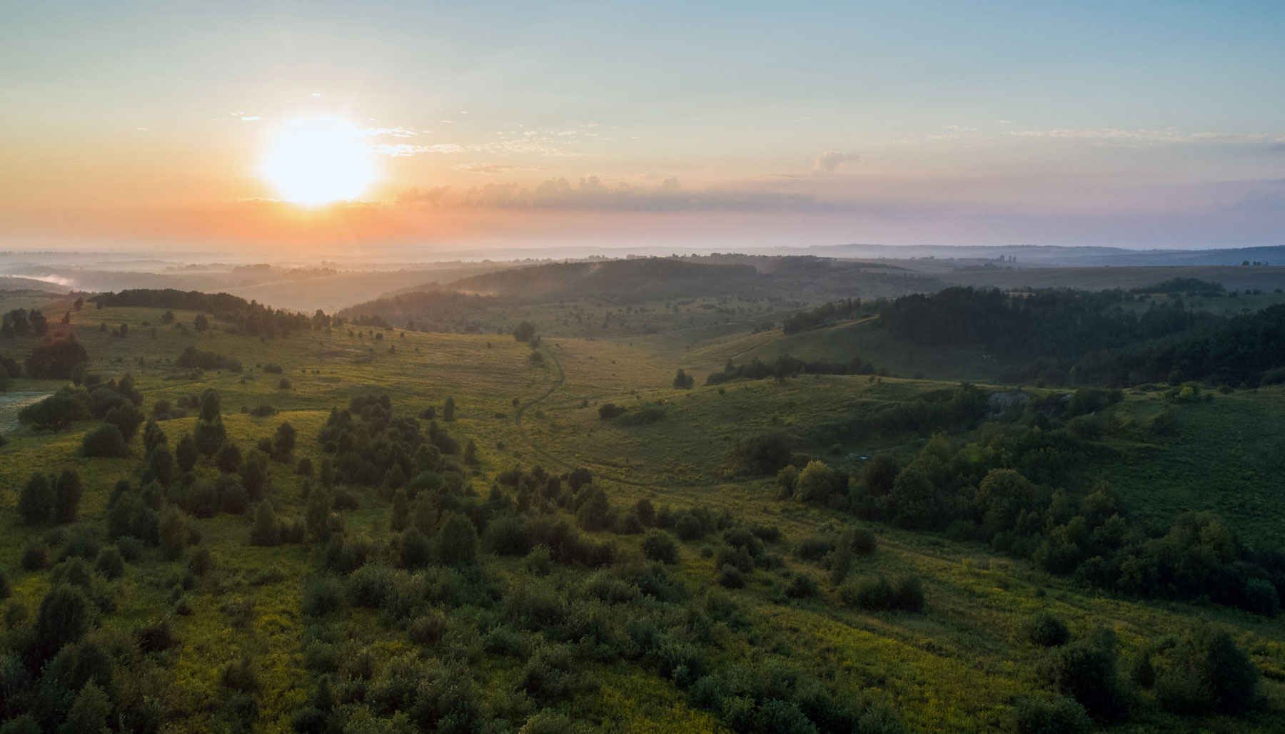
{"type": "MultiPolygon", "coordinates": [[[[1194,278],[1177,278],[1194,280],[1194,278]]],[[[1186,287],[1176,281],[1164,287],[1186,287]]],[[[888,303],[880,323],[929,346],[984,346],[1018,364],[1010,381],[1257,385],[1285,366],[1285,305],[1218,316],[1181,303],[1126,308],[1132,294],[950,287],[888,303]]]]}

